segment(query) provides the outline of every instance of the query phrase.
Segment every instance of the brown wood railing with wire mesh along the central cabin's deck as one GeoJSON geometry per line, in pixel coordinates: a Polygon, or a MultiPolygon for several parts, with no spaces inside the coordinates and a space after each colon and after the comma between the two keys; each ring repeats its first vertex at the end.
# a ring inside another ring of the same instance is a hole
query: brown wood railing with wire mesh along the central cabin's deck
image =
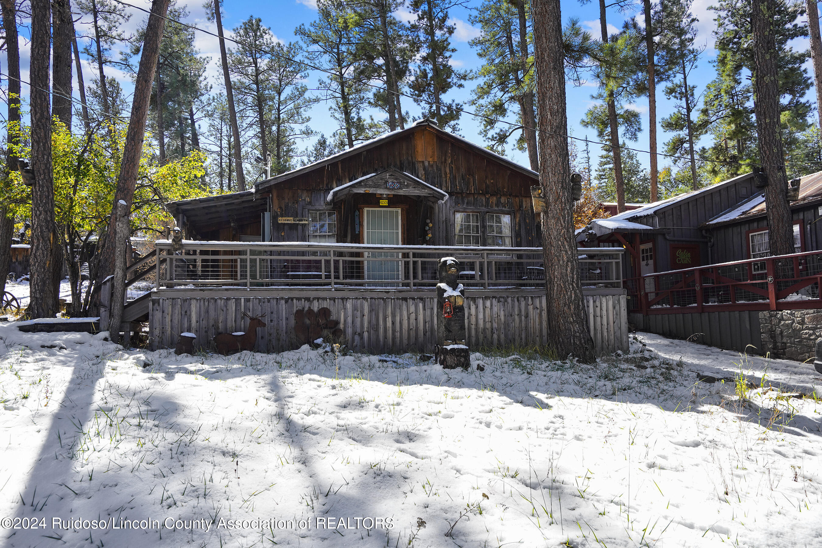
{"type": "MultiPolygon", "coordinates": [[[[308,242],[160,240],[159,288],[435,288],[437,263],[460,261],[466,288],[542,288],[543,250],[535,247],[371,246],[308,242]]],[[[580,249],[584,287],[621,288],[621,248],[580,249]]]]}

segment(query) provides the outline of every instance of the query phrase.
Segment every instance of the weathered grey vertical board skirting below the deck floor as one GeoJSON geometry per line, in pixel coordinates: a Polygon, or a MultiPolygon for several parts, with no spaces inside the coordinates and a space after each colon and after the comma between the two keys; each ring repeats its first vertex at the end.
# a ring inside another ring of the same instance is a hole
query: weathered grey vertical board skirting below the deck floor
{"type": "MultiPolygon", "coordinates": [[[[547,343],[545,295],[468,295],[466,330],[471,348],[529,347],[547,343]]],[[[628,350],[625,295],[585,297],[589,329],[598,354],[628,350]]],[[[299,348],[294,311],[327,307],[339,321],[348,347],[372,354],[432,352],[436,343],[436,296],[154,297],[150,305],[152,348],[173,348],[180,333],[196,334],[195,348],[209,348],[218,333],[244,331],[248,315],[265,314],[257,331],[258,352],[299,348]]]]}

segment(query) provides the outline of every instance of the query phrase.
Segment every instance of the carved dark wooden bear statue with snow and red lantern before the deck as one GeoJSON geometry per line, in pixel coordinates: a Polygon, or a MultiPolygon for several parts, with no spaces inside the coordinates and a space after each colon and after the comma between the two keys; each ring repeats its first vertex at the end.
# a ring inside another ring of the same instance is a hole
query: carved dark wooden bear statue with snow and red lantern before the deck
{"type": "Polygon", "coordinates": [[[459,276],[459,261],[443,257],[436,284],[436,362],[443,369],[469,369],[471,359],[465,343],[465,293],[459,276]]]}

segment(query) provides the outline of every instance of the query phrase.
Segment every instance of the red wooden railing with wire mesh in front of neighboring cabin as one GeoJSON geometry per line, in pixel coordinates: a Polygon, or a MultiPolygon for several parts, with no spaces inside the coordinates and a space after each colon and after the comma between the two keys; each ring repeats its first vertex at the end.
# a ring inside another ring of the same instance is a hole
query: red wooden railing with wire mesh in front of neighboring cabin
{"type": "Polygon", "coordinates": [[[822,251],[737,260],[623,281],[643,314],[822,308],[822,251]]]}

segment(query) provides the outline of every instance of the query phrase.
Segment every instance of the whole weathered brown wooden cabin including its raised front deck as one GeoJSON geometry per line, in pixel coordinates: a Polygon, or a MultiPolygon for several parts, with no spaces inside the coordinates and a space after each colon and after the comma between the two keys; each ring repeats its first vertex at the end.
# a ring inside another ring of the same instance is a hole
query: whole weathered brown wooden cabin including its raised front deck
{"type": "MultiPolygon", "coordinates": [[[[256,348],[281,352],[312,342],[295,322],[327,309],[354,351],[431,352],[437,265],[455,256],[473,348],[547,343],[538,182],[421,120],[248,191],[169,203],[184,239],[156,242],[158,287],[123,321],[149,315],[152,348],[183,332],[207,348],[265,314],[256,348]]],[[[598,352],[628,349],[622,255],[579,258],[598,352]]]]}

